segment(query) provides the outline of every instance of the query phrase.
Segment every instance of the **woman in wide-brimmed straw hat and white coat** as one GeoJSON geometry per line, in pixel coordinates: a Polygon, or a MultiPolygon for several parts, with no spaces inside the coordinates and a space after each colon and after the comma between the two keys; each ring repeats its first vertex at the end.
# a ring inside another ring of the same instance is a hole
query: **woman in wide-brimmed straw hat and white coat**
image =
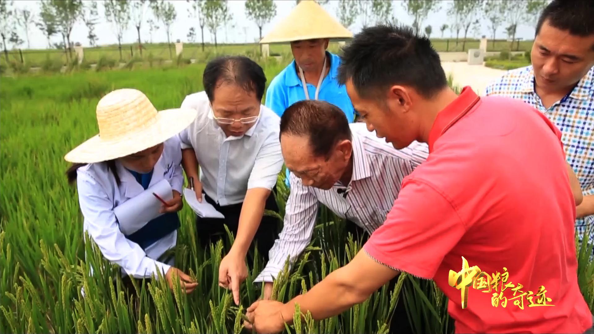
{"type": "Polygon", "coordinates": [[[84,231],[106,259],[122,268],[122,275],[150,278],[160,270],[170,287],[179,279],[191,292],[197,283],[161,257],[176,244],[182,208],[184,177],[175,135],[194,120],[196,111],[157,112],[142,92],[119,89],[104,96],[96,112],[99,134],[65,156],[74,163],[67,175],[70,182],[77,181],[84,231]],[[163,215],[134,222],[134,228],[118,221],[117,206],[163,179],[173,189],[172,199],[160,208],[163,215]]]}

